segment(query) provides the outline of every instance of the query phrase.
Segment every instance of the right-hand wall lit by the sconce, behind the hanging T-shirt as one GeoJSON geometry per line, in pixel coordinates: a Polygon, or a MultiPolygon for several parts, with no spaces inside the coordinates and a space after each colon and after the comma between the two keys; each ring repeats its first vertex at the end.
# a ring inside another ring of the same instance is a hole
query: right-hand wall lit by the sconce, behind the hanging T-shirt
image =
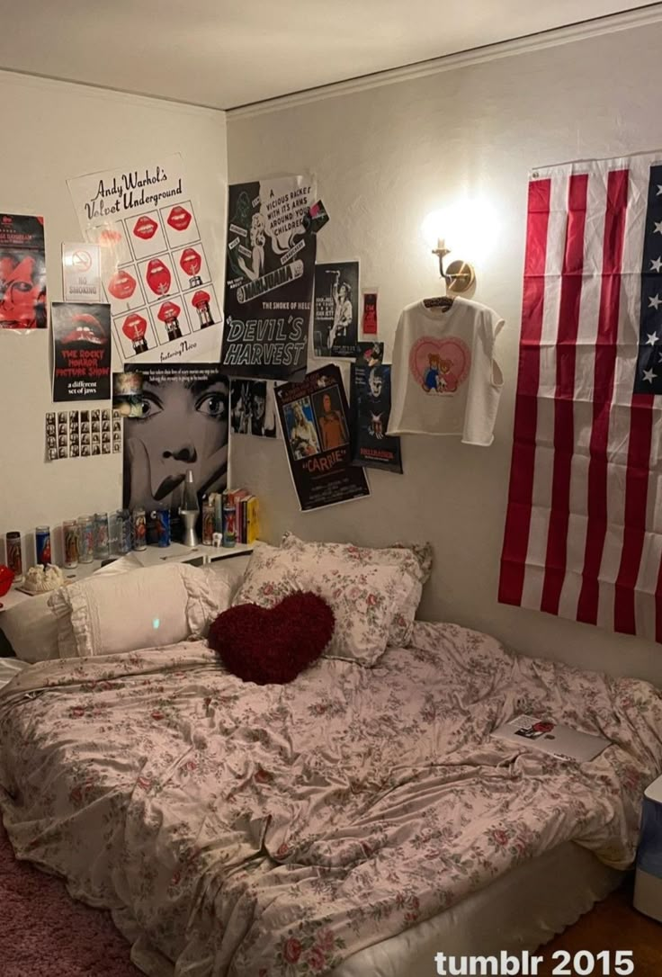
{"type": "Polygon", "coordinates": [[[368,544],[431,539],[435,569],[421,616],[490,631],[524,653],[658,684],[659,646],[501,606],[496,592],[517,381],[527,173],[545,163],[662,146],[655,81],[660,50],[658,22],[228,115],[230,182],[275,173],[316,175],[331,215],[318,238],[319,260],[360,259],[362,282],[379,284],[381,334],[389,344],[400,309],[439,290],[421,223],[429,211],[463,194],[491,205],[497,239],[482,258],[477,247],[458,257],[476,259],[476,300],[507,322],[498,356],[505,389],[489,448],[404,437],[404,476],[370,472],[370,499],[302,515],[282,443],[235,439],[233,482],[263,496],[265,538],[275,541],[290,529],[368,544]]]}

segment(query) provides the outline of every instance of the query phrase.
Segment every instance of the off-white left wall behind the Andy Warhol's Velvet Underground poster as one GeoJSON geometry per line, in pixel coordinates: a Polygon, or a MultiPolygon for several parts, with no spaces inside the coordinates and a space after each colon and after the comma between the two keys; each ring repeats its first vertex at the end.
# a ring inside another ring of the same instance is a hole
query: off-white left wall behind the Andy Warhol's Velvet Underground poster
{"type": "MultiPolygon", "coordinates": [[[[181,152],[196,191],[202,234],[223,240],[224,112],[5,71],[0,71],[0,98],[0,209],[43,215],[49,300],[62,299],[62,240],[81,239],[67,178],[181,152]]],[[[222,260],[220,251],[218,266],[222,260]]],[[[121,504],[121,455],[44,460],[44,413],[53,409],[50,339],[50,330],[0,334],[0,560],[8,530],[29,536],[40,523],[55,527],[62,519],[121,504]]],[[[28,539],[24,554],[29,553],[28,539]]]]}

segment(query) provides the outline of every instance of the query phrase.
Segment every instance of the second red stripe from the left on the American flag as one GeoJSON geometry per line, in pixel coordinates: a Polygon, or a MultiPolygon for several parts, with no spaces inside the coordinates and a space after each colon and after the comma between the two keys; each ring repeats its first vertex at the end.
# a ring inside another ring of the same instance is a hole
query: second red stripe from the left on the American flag
{"type": "Polygon", "coordinates": [[[565,577],[567,529],[570,518],[570,475],[574,447],[575,362],[584,271],[584,229],[589,176],[570,177],[565,251],[560,280],[557,333],[557,391],[554,400],[554,477],[547,533],[545,579],[540,610],[559,614],[565,577]]]}

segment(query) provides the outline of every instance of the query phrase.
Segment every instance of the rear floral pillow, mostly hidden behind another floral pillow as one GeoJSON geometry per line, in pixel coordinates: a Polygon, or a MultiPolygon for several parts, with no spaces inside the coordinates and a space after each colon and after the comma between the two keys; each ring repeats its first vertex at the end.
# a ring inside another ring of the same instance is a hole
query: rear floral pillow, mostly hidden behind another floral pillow
{"type": "Polygon", "coordinates": [[[430,543],[396,543],[383,549],[355,546],[353,543],[318,543],[299,539],[293,532],[286,532],[281,546],[286,550],[299,550],[310,555],[315,563],[328,557],[343,560],[349,570],[370,566],[396,566],[408,579],[406,594],[393,614],[388,644],[404,648],[409,644],[414,618],[421,603],[423,584],[430,578],[433,568],[433,548],[430,543]]]}

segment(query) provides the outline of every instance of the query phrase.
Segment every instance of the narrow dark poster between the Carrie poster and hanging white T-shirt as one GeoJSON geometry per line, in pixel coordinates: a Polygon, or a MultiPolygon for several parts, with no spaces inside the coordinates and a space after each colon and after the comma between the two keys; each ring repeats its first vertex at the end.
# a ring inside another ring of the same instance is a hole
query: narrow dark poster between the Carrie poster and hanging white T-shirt
{"type": "Polygon", "coordinates": [[[352,363],[352,462],[402,473],[400,439],[387,436],[391,416],[391,366],[361,356],[352,363]]]}

